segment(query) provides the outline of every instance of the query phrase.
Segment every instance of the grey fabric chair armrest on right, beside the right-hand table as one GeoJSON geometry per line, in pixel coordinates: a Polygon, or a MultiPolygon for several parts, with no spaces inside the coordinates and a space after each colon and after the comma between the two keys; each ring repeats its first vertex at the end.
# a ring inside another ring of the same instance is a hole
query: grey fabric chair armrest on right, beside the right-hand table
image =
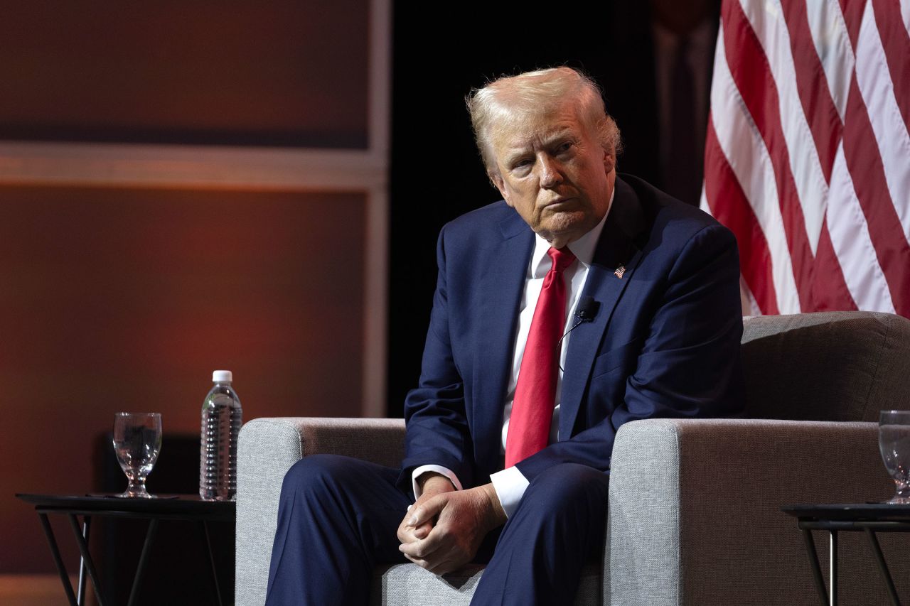
{"type": "MultiPolygon", "coordinates": [[[[781,507],[885,500],[893,491],[875,423],[628,423],[613,446],[604,603],[815,603],[802,536],[781,507]]],[[[863,551],[842,559],[844,603],[874,603],[875,562],[859,533],[844,534],[844,557],[863,551]]],[[[893,537],[882,537],[883,549],[893,537]]],[[[896,560],[899,578],[906,557],[896,560]]]]}

